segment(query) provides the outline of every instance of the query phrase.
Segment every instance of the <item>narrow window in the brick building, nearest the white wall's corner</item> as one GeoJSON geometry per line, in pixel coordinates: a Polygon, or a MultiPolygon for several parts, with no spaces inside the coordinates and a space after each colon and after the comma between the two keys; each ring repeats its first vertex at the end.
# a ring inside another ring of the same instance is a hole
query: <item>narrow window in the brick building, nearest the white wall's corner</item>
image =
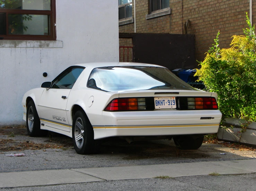
{"type": "Polygon", "coordinates": [[[118,0],[118,19],[132,17],[132,0],[118,0]]]}

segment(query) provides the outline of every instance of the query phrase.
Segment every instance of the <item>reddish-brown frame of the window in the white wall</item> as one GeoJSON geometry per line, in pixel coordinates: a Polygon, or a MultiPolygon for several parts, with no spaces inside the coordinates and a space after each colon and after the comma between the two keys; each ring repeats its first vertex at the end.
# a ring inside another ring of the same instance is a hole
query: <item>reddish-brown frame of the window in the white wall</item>
{"type": "Polygon", "coordinates": [[[51,10],[20,10],[20,9],[0,9],[0,13],[5,13],[6,34],[0,35],[0,40],[56,40],[56,0],[51,0],[51,10]],[[28,34],[8,34],[8,14],[36,14],[50,16],[50,35],[28,35],[28,34]]]}

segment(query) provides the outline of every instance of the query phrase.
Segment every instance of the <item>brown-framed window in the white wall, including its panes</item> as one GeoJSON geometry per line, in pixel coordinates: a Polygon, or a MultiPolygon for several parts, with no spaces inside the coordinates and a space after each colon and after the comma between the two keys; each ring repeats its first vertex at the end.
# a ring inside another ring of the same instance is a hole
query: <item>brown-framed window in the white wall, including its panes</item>
{"type": "Polygon", "coordinates": [[[0,0],[0,38],[56,40],[55,0],[0,0]]]}

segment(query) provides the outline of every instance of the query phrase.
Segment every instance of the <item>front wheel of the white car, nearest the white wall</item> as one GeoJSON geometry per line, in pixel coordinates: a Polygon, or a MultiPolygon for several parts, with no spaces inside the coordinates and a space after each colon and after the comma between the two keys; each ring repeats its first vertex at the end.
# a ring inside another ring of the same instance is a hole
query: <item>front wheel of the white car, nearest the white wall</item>
{"type": "Polygon", "coordinates": [[[27,132],[30,137],[43,137],[48,133],[47,130],[40,129],[41,123],[33,100],[30,100],[27,105],[26,122],[27,132]]]}

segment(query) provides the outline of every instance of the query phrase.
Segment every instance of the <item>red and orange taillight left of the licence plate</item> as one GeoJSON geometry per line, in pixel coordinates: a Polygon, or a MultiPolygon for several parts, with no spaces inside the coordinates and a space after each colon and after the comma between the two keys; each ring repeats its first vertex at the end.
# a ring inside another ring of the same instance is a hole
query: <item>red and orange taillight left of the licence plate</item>
{"type": "Polygon", "coordinates": [[[146,110],[145,98],[116,98],[113,99],[104,111],[134,111],[146,110]]]}

